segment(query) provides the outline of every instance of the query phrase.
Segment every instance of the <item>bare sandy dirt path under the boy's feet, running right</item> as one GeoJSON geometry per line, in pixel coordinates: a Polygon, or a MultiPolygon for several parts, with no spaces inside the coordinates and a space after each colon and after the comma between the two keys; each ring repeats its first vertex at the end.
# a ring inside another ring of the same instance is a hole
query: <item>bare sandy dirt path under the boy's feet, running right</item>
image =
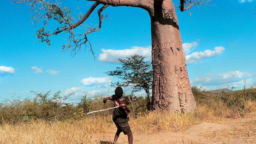
{"type": "MultiPolygon", "coordinates": [[[[134,144],[173,144],[173,143],[235,143],[235,144],[248,144],[255,143],[255,137],[217,137],[209,134],[220,133],[224,135],[229,129],[234,130],[234,126],[246,127],[251,121],[255,121],[254,118],[242,118],[228,121],[219,121],[215,123],[204,122],[199,125],[195,125],[182,132],[164,132],[160,134],[136,134],[134,133],[134,144]],[[208,135],[206,135],[206,133],[208,135]]],[[[256,129],[255,129],[256,131],[256,129]]],[[[92,140],[95,143],[100,144],[112,144],[114,134],[106,135],[92,135],[92,140]]],[[[120,134],[118,139],[119,144],[128,144],[127,136],[120,134]]]]}

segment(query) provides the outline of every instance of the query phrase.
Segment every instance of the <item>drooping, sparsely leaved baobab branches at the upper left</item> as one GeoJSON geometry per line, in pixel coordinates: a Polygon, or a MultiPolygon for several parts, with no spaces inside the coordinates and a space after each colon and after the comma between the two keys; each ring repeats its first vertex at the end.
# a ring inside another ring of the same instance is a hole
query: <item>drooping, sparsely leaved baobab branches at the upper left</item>
{"type": "MultiPolygon", "coordinates": [[[[35,20],[35,24],[38,23],[41,19],[44,19],[44,25],[47,26],[48,20],[57,20],[58,23],[60,23],[60,27],[56,28],[54,32],[51,32],[49,30],[46,30],[44,27],[37,30],[36,35],[39,39],[41,39],[41,42],[46,42],[48,45],[51,45],[49,36],[51,35],[58,35],[60,33],[69,33],[68,39],[67,39],[67,45],[62,45],[63,51],[66,49],[72,48],[71,55],[76,55],[78,51],[80,51],[80,48],[82,45],[85,45],[86,47],[90,47],[90,51],[92,51],[93,57],[94,52],[92,49],[92,45],[90,41],[87,38],[87,34],[98,31],[102,26],[102,19],[107,19],[108,15],[102,15],[101,12],[108,7],[109,5],[104,4],[98,11],[98,17],[99,17],[99,25],[97,28],[94,26],[86,26],[83,25],[84,21],[91,15],[91,13],[96,9],[97,6],[99,6],[99,1],[96,1],[90,9],[87,11],[85,15],[81,14],[78,17],[80,17],[80,20],[76,21],[74,17],[71,16],[71,10],[67,7],[60,7],[60,3],[58,1],[48,1],[48,0],[12,0],[15,3],[27,3],[28,6],[30,6],[31,13],[33,14],[33,20],[35,20]],[[56,2],[56,3],[54,3],[56,2]],[[41,13],[41,11],[43,13],[41,13]],[[74,23],[74,24],[73,24],[74,23]],[[87,32],[84,33],[78,33],[76,34],[74,32],[75,28],[80,29],[87,29],[87,32]]],[[[80,10],[80,9],[79,9],[80,10]]]]}

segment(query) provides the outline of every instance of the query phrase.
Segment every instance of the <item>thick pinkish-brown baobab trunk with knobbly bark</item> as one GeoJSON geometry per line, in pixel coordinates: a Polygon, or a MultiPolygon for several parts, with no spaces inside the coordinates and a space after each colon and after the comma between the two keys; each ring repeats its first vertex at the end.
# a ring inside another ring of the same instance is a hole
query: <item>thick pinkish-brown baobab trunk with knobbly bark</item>
{"type": "Polygon", "coordinates": [[[154,110],[186,113],[196,109],[172,0],[155,0],[150,12],[154,110]],[[157,1],[157,2],[156,2],[157,1]]]}

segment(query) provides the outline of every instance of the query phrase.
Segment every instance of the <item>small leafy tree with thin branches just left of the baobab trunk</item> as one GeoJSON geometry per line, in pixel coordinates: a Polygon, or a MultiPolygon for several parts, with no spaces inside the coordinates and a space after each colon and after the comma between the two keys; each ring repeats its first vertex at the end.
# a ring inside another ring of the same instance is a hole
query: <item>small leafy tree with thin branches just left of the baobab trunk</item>
{"type": "Polygon", "coordinates": [[[144,90],[148,101],[151,103],[150,89],[153,81],[153,71],[149,61],[144,60],[141,55],[132,55],[125,60],[119,59],[122,67],[116,67],[116,70],[108,71],[109,76],[116,76],[123,81],[115,83],[116,86],[132,87],[132,92],[144,90]]]}

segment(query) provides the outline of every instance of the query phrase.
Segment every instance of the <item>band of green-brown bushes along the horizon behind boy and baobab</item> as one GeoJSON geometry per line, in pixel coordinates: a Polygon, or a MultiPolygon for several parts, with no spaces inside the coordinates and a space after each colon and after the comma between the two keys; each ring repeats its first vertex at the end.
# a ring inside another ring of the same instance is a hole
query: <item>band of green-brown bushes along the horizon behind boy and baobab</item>
{"type": "MultiPolygon", "coordinates": [[[[248,103],[256,101],[256,88],[238,90],[234,92],[222,92],[214,94],[192,87],[198,111],[195,116],[200,119],[209,119],[211,116],[219,118],[236,118],[253,111],[248,108],[248,103]]],[[[79,103],[67,103],[68,96],[60,96],[60,92],[50,95],[34,92],[34,99],[7,100],[0,103],[0,124],[7,122],[16,124],[19,122],[31,122],[42,119],[45,121],[64,121],[67,119],[83,119],[87,117],[111,116],[113,110],[86,115],[87,112],[113,107],[113,102],[103,104],[104,95],[93,98],[83,96],[79,103]]],[[[147,97],[124,95],[133,118],[143,117],[148,114],[150,103],[147,97]]],[[[250,107],[250,106],[249,106],[250,107]]],[[[252,107],[252,106],[251,106],[252,107]]],[[[111,121],[111,119],[109,119],[111,121]]],[[[111,121],[112,122],[112,121],[111,121]]]]}

